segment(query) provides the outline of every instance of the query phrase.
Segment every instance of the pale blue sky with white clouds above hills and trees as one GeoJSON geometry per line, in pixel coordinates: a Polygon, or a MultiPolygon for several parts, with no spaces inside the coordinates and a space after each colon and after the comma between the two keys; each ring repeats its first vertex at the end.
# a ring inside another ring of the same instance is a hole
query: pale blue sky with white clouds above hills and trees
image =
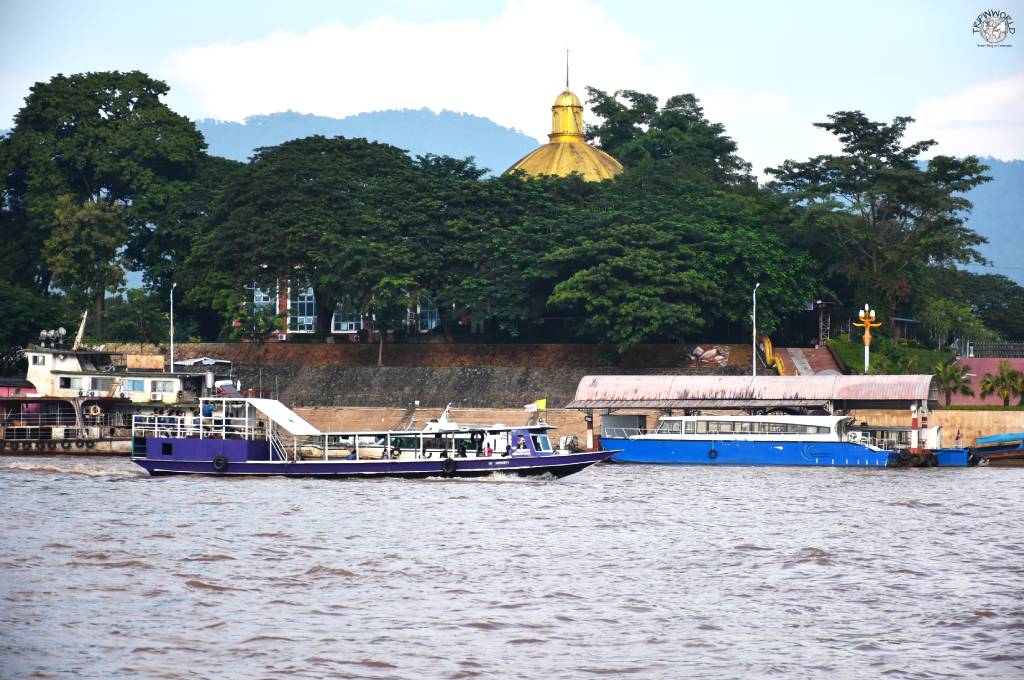
{"type": "Polygon", "coordinates": [[[0,129],[36,82],[138,69],[193,119],[428,108],[545,140],[566,49],[581,98],[693,92],[758,172],[837,151],[812,124],[843,110],[1024,159],[1024,0],[0,0],[0,129]],[[988,9],[1015,22],[997,47],[988,9]]]}

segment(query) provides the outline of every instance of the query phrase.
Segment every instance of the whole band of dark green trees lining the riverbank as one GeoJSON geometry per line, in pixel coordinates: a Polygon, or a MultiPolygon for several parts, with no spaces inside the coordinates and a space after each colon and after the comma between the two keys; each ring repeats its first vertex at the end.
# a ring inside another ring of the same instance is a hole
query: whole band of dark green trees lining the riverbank
{"type": "MultiPolygon", "coordinates": [[[[323,136],[238,163],[206,155],[144,74],[37,84],[0,137],[0,350],[86,303],[99,339],[160,339],[172,284],[179,337],[258,342],[286,313],[264,313],[253,291],[282,281],[313,290],[319,339],[336,308],[399,332],[410,308],[431,307],[449,339],[468,318],[489,337],[557,334],[621,355],[749,335],[755,283],[769,333],[799,335],[822,297],[922,320],[940,351],[883,333],[881,371],[927,370],[965,337],[1024,335],[1024,290],[955,268],[980,260],[963,195],[984,166],[922,165],[934,142],[905,143],[910,119],[833,114],[818,125],[841,154],[787,161],[759,186],[693,94],[588,91],[589,138],[626,166],[612,181],[485,178],[472,159],[323,136]],[[144,290],[123,293],[127,270],[144,290]]],[[[849,344],[837,348],[859,366],[849,344]]]]}

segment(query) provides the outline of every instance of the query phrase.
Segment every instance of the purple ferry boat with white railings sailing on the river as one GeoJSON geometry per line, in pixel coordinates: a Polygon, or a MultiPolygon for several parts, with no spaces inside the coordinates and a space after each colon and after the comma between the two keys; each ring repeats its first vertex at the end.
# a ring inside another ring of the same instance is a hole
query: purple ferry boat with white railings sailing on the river
{"type": "Polygon", "coordinates": [[[152,475],[564,477],[614,451],[560,452],[547,425],[322,432],[274,399],[204,398],[191,416],[135,416],[132,461],[152,475]]]}

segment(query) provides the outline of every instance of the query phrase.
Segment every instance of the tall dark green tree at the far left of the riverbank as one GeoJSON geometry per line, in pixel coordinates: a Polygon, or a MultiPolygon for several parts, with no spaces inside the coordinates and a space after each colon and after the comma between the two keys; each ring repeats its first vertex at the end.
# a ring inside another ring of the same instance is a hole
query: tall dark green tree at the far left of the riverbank
{"type": "Polygon", "coordinates": [[[73,297],[94,296],[99,337],[121,250],[159,217],[169,187],[188,179],[205,146],[195,125],[160,100],[167,91],[137,71],[57,75],[31,88],[0,150],[0,238],[19,249],[14,280],[46,294],[55,278],[73,297]],[[102,225],[112,230],[94,246],[102,225]]]}

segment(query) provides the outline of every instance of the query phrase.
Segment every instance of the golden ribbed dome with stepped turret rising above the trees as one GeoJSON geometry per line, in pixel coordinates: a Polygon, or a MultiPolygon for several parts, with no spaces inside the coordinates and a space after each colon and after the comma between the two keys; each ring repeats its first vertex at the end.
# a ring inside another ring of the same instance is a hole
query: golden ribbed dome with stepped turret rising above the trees
{"type": "Polygon", "coordinates": [[[587,181],[611,179],[621,173],[623,164],[588,144],[583,130],[583,104],[580,97],[565,89],[551,107],[548,143],[526,154],[506,172],[522,170],[527,175],[562,177],[577,172],[587,181]]]}

